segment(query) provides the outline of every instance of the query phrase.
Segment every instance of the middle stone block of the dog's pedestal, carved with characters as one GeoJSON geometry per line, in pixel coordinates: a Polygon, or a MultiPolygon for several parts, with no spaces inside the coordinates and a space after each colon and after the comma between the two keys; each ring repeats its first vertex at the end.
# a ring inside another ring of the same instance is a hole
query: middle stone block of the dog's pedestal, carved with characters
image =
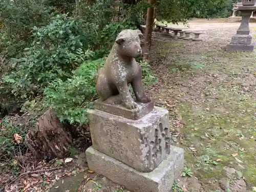
{"type": "Polygon", "coordinates": [[[140,172],[151,172],[170,153],[168,111],[155,106],[139,120],[88,110],[93,147],[140,172]]]}

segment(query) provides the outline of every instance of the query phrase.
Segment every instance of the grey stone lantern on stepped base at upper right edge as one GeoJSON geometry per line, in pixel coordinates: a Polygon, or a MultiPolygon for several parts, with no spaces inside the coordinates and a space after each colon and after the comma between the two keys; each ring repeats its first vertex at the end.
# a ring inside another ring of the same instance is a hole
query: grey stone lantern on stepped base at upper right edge
{"type": "Polygon", "coordinates": [[[255,43],[251,42],[249,20],[253,11],[256,10],[256,0],[242,0],[243,6],[238,10],[242,14],[242,22],[237,30],[237,34],[232,36],[231,42],[227,44],[227,51],[253,51],[255,43]]]}

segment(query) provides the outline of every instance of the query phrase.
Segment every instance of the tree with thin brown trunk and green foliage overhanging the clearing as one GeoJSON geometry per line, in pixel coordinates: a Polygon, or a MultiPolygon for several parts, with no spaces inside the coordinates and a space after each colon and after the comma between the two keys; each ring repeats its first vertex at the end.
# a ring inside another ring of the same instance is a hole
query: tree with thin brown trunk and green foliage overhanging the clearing
{"type": "Polygon", "coordinates": [[[152,27],[154,16],[158,20],[165,20],[168,23],[186,23],[193,17],[214,18],[227,17],[230,15],[232,3],[238,0],[141,0],[141,4],[146,4],[146,34],[145,34],[145,58],[148,58],[148,51],[151,47],[152,27]],[[156,14],[154,14],[154,10],[156,14]]]}

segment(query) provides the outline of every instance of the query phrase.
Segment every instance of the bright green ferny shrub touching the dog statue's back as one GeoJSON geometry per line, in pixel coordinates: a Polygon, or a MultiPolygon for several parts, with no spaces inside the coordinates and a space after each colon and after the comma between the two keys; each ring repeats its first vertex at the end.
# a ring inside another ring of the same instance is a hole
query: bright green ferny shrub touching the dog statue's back
{"type": "Polygon", "coordinates": [[[92,107],[96,94],[96,73],[105,59],[86,61],[74,72],[72,78],[56,79],[45,89],[44,103],[52,106],[61,121],[87,123],[86,111],[92,107]]]}

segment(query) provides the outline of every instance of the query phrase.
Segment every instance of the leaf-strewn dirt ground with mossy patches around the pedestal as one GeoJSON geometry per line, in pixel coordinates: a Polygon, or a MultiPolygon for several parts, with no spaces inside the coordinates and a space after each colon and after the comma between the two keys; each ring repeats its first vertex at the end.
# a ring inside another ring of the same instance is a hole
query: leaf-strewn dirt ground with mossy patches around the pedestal
{"type": "MultiPolygon", "coordinates": [[[[169,110],[173,145],[185,150],[185,177],[176,181],[173,190],[252,191],[256,186],[256,52],[226,51],[240,23],[195,19],[188,24],[189,30],[203,33],[203,41],[174,39],[162,32],[154,35],[151,54],[158,82],[148,88],[148,94],[156,105],[169,110]]],[[[255,41],[256,24],[250,29],[255,41]]],[[[37,188],[126,191],[89,173],[84,154],[72,163],[70,177],[50,173],[53,179],[44,182],[48,186],[37,184],[37,188]]]]}

